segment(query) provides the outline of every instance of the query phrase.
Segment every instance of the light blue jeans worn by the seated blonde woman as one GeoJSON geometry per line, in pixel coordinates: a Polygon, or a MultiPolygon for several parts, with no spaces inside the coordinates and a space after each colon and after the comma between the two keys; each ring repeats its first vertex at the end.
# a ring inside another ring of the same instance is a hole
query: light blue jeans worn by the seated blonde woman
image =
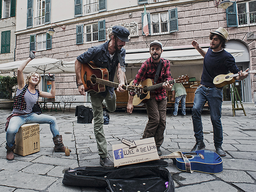
{"type": "Polygon", "coordinates": [[[28,115],[13,116],[10,119],[7,131],[6,142],[8,147],[12,147],[15,140],[15,135],[18,132],[21,125],[25,123],[38,123],[38,124],[50,124],[50,129],[53,137],[60,135],[58,125],[55,117],[49,115],[37,115],[36,113],[29,113],[28,115]]]}

